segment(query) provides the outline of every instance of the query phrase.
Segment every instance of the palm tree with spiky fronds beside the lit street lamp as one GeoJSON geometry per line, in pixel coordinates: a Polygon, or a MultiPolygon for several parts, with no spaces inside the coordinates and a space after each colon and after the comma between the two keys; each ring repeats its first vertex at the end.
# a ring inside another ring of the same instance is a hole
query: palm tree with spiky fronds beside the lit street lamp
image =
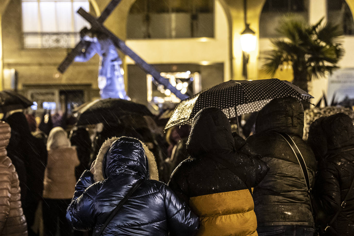
{"type": "Polygon", "coordinates": [[[274,76],[276,70],[292,66],[293,84],[308,92],[307,82],[337,69],[344,55],[342,30],[337,25],[314,25],[294,15],[286,15],[276,30],[282,38],[272,40],[274,49],[266,53],[263,69],[274,76]]]}

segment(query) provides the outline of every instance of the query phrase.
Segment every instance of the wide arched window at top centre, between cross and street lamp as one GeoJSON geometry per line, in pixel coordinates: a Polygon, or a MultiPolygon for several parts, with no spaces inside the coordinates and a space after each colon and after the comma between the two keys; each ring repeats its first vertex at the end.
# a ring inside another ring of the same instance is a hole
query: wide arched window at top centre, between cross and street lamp
{"type": "Polygon", "coordinates": [[[214,0],[137,0],[127,21],[128,39],[213,35],[214,0]]]}

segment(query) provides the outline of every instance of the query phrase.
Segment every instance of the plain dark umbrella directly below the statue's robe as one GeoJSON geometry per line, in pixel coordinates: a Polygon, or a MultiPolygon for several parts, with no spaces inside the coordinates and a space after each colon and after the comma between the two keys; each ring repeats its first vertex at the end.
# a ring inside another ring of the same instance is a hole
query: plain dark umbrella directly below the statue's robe
{"type": "Polygon", "coordinates": [[[153,115],[145,105],[119,98],[94,100],[76,110],[76,113],[78,114],[76,126],[101,122],[117,123],[120,117],[130,114],[142,116],[153,115]]]}

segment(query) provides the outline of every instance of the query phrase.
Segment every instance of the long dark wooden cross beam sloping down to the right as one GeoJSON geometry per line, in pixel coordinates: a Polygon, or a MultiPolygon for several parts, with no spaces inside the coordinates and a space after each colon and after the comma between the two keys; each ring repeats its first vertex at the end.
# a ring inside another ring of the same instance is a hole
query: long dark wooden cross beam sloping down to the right
{"type": "Polygon", "coordinates": [[[95,17],[91,16],[90,13],[86,12],[83,8],[80,7],[78,10],[79,15],[81,15],[86,21],[90,22],[91,26],[101,31],[103,34],[107,35],[113,44],[122,51],[125,55],[128,55],[132,58],[145,73],[153,76],[154,80],[164,86],[165,89],[169,89],[173,94],[176,95],[179,99],[183,100],[188,98],[188,94],[182,94],[181,91],[177,90],[176,87],[172,86],[166,78],[160,75],[160,72],[156,70],[152,65],[145,62],[141,57],[139,57],[135,52],[133,52],[123,40],[119,39],[111,31],[105,28],[101,22],[99,22],[95,17]]]}

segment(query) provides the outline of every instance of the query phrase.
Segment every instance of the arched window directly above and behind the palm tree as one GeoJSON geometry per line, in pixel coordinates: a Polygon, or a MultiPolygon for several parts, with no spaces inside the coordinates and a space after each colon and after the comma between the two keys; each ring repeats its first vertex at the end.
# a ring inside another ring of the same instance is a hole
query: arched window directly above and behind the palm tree
{"type": "MultiPolygon", "coordinates": [[[[335,1],[335,0],[334,0],[335,1]]],[[[264,3],[260,21],[259,37],[271,38],[279,36],[275,28],[281,17],[293,13],[308,21],[308,1],[305,0],[267,0],[264,3]]]]}

